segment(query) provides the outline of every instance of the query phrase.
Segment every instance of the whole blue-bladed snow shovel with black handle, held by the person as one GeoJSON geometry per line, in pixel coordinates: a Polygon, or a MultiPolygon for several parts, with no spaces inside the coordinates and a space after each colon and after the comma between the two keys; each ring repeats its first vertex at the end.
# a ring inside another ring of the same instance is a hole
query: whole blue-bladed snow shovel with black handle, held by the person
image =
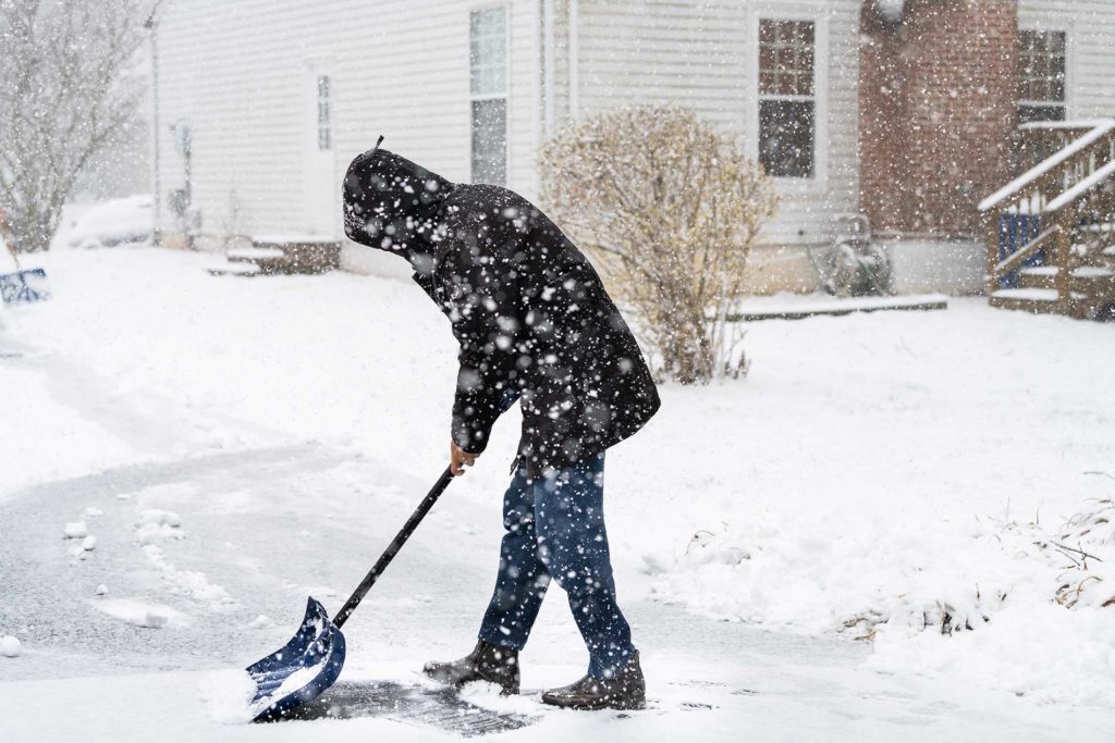
{"type": "Polygon", "coordinates": [[[290,642],[282,649],[248,666],[246,671],[255,682],[255,697],[250,705],[254,713],[252,722],[278,720],[290,710],[317,698],[333,685],[345,665],[345,635],[341,634],[341,626],[376,585],[376,580],[452,480],[453,472],[446,469],[387,546],[375,567],[345,602],[336,619],[330,620],[326,607],[311,596],[306,605],[302,626],[290,642]]]}

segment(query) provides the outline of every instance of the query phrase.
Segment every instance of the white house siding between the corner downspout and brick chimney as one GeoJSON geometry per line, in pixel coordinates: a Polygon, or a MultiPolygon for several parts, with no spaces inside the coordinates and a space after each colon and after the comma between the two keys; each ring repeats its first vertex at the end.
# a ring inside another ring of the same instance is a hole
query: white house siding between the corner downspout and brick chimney
{"type": "MultiPolygon", "coordinates": [[[[779,179],[782,206],[765,233],[773,247],[824,243],[834,214],[859,204],[857,0],[580,0],[583,116],[615,106],[673,102],[696,108],[757,154],[757,19],[817,23],[817,176],[779,179]]],[[[783,271],[812,274],[801,251],[783,271]]],[[[777,261],[777,255],[756,256],[777,261]]],[[[803,276],[812,281],[812,276],[803,276]]]]}

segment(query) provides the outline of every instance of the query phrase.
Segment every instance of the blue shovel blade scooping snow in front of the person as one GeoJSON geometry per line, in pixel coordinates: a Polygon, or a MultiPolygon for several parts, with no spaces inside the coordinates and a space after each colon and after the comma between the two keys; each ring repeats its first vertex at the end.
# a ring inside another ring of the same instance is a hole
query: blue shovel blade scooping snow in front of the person
{"type": "Polygon", "coordinates": [[[345,665],[345,635],[310,597],[302,626],[282,649],[248,666],[255,682],[252,722],[282,717],[333,685],[345,665]]]}

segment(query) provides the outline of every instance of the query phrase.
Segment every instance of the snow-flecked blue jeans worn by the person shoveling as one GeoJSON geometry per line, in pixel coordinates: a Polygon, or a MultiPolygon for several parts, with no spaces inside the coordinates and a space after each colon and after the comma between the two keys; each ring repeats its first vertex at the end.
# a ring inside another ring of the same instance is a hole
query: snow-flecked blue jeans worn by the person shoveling
{"type": "Polygon", "coordinates": [[[534,480],[520,462],[504,496],[500,575],[481,639],[522,649],[553,578],[589,648],[589,674],[609,678],[627,664],[634,647],[615,604],[603,483],[603,452],[534,480]]]}

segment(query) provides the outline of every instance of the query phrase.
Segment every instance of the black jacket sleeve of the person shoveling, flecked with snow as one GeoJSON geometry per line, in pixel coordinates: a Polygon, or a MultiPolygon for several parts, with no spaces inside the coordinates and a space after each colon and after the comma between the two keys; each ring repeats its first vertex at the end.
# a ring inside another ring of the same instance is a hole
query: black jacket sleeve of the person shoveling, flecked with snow
{"type": "Polygon", "coordinates": [[[450,237],[442,270],[453,334],[460,344],[453,440],[469,453],[481,453],[502,412],[504,390],[514,382],[521,348],[517,275],[502,257],[517,236],[498,223],[463,222],[450,237]]]}

